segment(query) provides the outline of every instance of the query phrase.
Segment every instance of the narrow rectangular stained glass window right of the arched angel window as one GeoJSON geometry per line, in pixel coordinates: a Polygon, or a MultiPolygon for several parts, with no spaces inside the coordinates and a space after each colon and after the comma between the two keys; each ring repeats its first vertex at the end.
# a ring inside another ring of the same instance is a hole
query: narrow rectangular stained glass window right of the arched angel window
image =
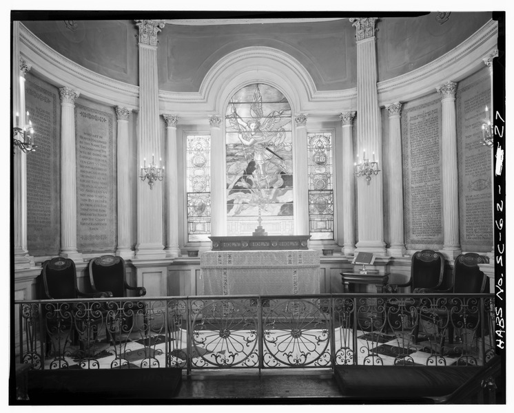
{"type": "Polygon", "coordinates": [[[333,240],[332,133],[307,134],[311,240],[333,240]]]}

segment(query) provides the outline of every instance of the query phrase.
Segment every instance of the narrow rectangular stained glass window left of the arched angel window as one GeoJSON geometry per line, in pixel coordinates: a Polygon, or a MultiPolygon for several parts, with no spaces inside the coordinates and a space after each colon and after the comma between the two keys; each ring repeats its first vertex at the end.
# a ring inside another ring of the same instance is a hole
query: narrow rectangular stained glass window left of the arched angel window
{"type": "Polygon", "coordinates": [[[187,242],[211,235],[211,137],[187,136],[187,242]]]}

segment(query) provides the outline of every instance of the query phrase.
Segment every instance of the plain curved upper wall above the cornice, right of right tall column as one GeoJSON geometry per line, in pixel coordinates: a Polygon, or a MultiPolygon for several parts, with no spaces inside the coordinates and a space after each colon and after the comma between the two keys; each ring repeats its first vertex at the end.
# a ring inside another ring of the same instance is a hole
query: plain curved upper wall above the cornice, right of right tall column
{"type": "Polygon", "coordinates": [[[378,81],[430,63],[491,19],[490,12],[452,12],[444,23],[439,23],[436,16],[434,12],[422,17],[388,17],[378,21],[378,81]]]}

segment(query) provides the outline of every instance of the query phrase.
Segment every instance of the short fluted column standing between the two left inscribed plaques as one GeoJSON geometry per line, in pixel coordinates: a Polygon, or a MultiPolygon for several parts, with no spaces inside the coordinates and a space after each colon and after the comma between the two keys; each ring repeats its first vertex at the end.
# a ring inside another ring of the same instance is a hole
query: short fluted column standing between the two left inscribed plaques
{"type": "Polygon", "coordinates": [[[81,261],[76,250],[75,100],[79,92],[59,89],[61,96],[61,255],[81,261]]]}

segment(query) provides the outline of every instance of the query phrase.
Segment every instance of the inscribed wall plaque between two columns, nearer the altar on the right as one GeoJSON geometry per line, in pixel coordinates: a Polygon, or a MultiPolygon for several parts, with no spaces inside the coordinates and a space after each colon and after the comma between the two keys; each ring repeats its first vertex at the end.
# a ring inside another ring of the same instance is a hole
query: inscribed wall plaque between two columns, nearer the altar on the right
{"type": "Polygon", "coordinates": [[[443,243],[439,96],[405,105],[402,135],[407,248],[438,249],[443,243]]]}

